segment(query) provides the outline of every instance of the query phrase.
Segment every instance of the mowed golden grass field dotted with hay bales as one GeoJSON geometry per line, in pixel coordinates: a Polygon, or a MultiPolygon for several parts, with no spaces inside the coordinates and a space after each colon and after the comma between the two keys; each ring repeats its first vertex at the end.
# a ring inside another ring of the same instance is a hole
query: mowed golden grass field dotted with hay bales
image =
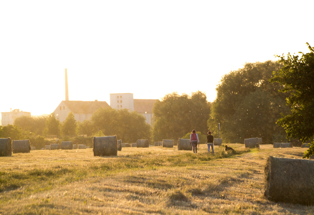
{"type": "Polygon", "coordinates": [[[312,214],[314,207],[263,196],[269,155],[301,158],[306,149],[201,145],[122,148],[115,157],[92,149],[36,150],[0,157],[0,214],[312,214]]]}

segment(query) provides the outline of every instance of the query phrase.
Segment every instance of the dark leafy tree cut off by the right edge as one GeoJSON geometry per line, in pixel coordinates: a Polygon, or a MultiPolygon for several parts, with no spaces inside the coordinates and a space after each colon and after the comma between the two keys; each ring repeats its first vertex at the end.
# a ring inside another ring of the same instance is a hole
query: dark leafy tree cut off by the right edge
{"type": "Polygon", "coordinates": [[[306,43],[309,53],[298,55],[278,56],[279,62],[284,67],[274,72],[272,83],[283,86],[281,92],[289,92],[287,105],[291,106],[292,112],[283,115],[278,120],[290,138],[298,138],[302,142],[312,141],[312,146],[306,152],[305,157],[314,154],[314,49],[306,43]]]}

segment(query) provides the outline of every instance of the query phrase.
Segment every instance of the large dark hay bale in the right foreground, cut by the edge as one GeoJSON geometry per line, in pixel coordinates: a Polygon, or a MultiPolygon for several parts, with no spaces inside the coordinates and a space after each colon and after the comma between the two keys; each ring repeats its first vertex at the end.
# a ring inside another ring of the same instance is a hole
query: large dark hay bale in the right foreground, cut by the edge
{"type": "Polygon", "coordinates": [[[314,161],[269,156],[265,197],[274,202],[314,204],[314,161]]]}

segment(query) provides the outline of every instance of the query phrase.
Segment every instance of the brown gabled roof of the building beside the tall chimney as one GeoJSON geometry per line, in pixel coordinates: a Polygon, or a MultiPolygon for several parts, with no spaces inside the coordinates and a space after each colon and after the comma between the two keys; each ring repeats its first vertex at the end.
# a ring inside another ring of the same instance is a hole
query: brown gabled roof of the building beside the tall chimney
{"type": "Polygon", "coordinates": [[[100,107],[110,107],[105,101],[62,101],[74,114],[91,114],[100,107]],[[93,109],[92,109],[93,105],[93,109]]]}

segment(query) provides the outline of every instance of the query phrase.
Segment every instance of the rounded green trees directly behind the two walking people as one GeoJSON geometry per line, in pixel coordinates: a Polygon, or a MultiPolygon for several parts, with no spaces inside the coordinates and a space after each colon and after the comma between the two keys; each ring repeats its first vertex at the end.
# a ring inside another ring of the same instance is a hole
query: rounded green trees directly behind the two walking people
{"type": "Polygon", "coordinates": [[[153,108],[154,141],[162,139],[177,140],[192,130],[206,133],[210,103],[205,93],[193,92],[191,95],[167,94],[157,100],[153,108]]]}

